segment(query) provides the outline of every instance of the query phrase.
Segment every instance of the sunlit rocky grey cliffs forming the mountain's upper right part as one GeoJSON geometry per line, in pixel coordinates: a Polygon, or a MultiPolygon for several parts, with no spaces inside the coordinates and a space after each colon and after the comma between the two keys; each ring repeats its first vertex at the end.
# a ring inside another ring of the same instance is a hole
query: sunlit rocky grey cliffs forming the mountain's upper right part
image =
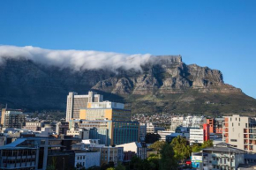
{"type": "Polygon", "coordinates": [[[114,78],[104,79],[93,89],[117,94],[184,93],[189,89],[199,92],[241,93],[223,82],[219,70],[210,70],[196,64],[186,65],[181,56],[158,56],[140,72],[121,72],[114,78]]]}

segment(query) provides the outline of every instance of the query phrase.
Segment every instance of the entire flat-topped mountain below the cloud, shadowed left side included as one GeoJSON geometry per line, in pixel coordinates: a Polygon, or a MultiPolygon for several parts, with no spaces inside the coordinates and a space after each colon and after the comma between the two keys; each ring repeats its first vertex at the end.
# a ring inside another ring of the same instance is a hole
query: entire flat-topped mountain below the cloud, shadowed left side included
{"type": "Polygon", "coordinates": [[[26,59],[6,59],[0,65],[0,102],[10,107],[65,110],[66,95],[89,90],[105,100],[125,102],[133,113],[254,112],[256,101],[224,84],[222,73],[181,56],[163,55],[141,70],[59,69],[26,59]],[[238,103],[245,103],[237,106],[238,103]]]}

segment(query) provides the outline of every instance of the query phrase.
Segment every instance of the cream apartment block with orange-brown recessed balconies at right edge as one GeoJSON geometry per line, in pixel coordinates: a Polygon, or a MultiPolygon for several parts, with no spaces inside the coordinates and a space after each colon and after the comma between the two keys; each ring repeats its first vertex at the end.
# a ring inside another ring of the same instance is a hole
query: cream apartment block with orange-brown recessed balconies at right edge
{"type": "Polygon", "coordinates": [[[240,150],[256,152],[256,120],[255,118],[232,115],[224,116],[223,142],[240,150]]]}

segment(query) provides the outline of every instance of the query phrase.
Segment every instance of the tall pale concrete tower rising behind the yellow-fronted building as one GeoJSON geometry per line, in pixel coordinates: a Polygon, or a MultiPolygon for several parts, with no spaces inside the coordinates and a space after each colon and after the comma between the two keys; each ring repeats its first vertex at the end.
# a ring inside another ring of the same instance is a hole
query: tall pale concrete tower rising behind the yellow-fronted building
{"type": "Polygon", "coordinates": [[[88,92],[87,95],[78,95],[77,92],[69,92],[67,96],[66,122],[71,119],[79,119],[79,110],[87,107],[88,102],[100,102],[103,96],[96,92],[88,92]]]}

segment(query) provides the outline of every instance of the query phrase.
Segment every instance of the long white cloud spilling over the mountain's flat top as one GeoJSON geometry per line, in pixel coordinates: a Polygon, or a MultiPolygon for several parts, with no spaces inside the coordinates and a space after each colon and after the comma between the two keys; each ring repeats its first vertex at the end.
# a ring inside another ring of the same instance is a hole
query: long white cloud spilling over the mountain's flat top
{"type": "Polygon", "coordinates": [[[16,47],[0,45],[0,63],[4,58],[25,58],[52,66],[71,68],[72,70],[141,70],[141,65],[153,62],[154,55],[125,55],[111,52],[82,50],[50,50],[32,46],[16,47]]]}

